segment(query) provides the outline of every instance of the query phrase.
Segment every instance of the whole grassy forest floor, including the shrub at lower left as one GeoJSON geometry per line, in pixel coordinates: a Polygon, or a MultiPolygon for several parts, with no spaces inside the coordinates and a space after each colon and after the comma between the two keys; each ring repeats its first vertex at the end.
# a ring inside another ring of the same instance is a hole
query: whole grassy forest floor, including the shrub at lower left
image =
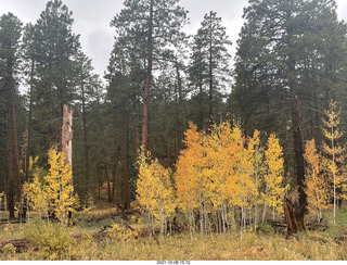
{"type": "MultiPolygon", "coordinates": [[[[115,234],[120,217],[106,217],[116,209],[105,209],[88,213],[76,213],[74,225],[63,227],[33,218],[28,224],[0,223],[1,243],[14,239],[33,237],[23,250],[13,244],[2,245],[2,261],[78,260],[78,261],[343,261],[347,260],[347,207],[337,212],[336,224],[331,215],[324,216],[329,228],[324,231],[305,231],[295,237],[275,232],[269,224],[258,231],[249,228],[242,235],[234,231],[227,235],[191,238],[189,231],[158,237],[115,234]],[[42,225],[43,224],[43,225],[42,225]],[[38,227],[39,226],[39,227],[38,227]],[[46,227],[46,228],[42,228],[46,227]],[[39,230],[39,231],[38,231],[39,230]],[[52,236],[52,232],[54,236],[52,236]],[[35,236],[36,235],[36,236],[35,236]],[[39,235],[39,236],[38,236],[39,235]],[[127,238],[127,239],[125,239],[127,238]],[[34,242],[33,242],[34,241],[34,242]]],[[[0,213],[0,219],[5,217],[0,213]]],[[[144,231],[146,224],[139,216],[129,216],[128,224],[137,231],[144,231]]]]}

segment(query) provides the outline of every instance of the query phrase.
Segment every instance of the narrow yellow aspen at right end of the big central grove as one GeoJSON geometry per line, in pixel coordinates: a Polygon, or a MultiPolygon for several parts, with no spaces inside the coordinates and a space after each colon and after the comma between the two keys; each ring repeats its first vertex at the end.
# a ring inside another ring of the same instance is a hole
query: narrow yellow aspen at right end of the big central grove
{"type": "Polygon", "coordinates": [[[268,139],[268,149],[265,151],[267,173],[264,176],[266,184],[266,193],[264,194],[264,213],[265,219],[267,205],[273,209],[274,212],[282,213],[283,195],[287,187],[283,185],[283,148],[280,146],[279,139],[274,134],[271,134],[268,139]]]}

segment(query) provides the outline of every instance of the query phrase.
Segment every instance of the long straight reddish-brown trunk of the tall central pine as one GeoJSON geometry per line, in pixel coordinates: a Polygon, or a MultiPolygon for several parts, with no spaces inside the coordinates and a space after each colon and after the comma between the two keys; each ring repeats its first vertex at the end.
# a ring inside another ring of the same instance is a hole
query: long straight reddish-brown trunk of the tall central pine
{"type": "Polygon", "coordinates": [[[150,5],[150,25],[149,25],[149,42],[147,42],[147,74],[144,86],[143,96],[143,123],[142,123],[142,146],[144,149],[147,148],[149,143],[149,112],[150,112],[150,89],[152,79],[152,68],[153,68],[153,3],[151,0],[150,5]]]}

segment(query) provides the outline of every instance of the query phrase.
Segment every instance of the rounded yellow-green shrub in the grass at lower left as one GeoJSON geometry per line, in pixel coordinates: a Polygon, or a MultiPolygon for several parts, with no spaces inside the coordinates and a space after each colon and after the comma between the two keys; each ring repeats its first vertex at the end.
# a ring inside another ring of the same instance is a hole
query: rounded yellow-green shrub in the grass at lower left
{"type": "Polygon", "coordinates": [[[25,236],[34,245],[49,254],[61,255],[68,251],[72,239],[67,228],[42,219],[31,219],[25,227],[25,236]]]}

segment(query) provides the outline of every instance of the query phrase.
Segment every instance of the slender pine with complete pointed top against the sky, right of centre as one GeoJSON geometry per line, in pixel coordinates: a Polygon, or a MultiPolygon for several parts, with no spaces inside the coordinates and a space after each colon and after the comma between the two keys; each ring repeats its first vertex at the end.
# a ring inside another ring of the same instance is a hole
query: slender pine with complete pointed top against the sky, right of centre
{"type": "Polygon", "coordinates": [[[229,89],[231,55],[228,46],[231,46],[231,41],[221,25],[221,18],[210,11],[194,36],[190,65],[190,79],[194,89],[198,89],[201,128],[204,123],[203,93],[208,94],[208,118],[213,121],[217,102],[229,89]]]}

